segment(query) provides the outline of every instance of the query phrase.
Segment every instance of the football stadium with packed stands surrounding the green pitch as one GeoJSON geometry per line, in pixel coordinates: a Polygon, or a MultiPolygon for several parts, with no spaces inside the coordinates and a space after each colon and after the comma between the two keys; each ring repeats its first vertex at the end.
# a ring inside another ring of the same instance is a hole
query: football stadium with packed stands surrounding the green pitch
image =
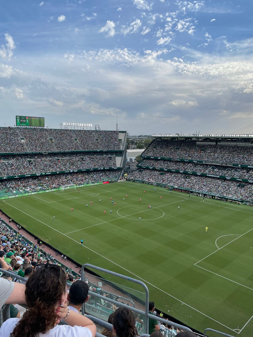
{"type": "Polygon", "coordinates": [[[130,170],[126,131],[28,123],[0,128],[3,275],[26,256],[62,266],[97,329],[128,307],[150,333],[153,301],[165,336],[250,335],[253,135],[153,134],[130,170]]]}

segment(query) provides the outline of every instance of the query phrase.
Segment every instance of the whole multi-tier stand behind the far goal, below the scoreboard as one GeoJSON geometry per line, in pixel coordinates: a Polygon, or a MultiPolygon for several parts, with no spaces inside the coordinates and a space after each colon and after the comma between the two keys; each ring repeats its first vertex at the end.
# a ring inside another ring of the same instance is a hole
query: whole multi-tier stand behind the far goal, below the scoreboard
{"type": "Polygon", "coordinates": [[[117,181],[124,161],[124,134],[121,131],[119,138],[116,131],[0,128],[0,197],[117,181]],[[72,172],[82,170],[87,172],[72,172]]]}

